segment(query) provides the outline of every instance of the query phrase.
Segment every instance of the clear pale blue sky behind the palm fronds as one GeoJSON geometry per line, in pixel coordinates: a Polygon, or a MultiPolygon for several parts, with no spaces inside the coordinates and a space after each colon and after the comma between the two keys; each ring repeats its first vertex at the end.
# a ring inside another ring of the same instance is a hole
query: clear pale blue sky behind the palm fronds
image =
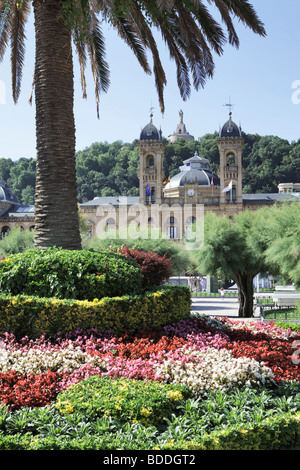
{"type": "MultiPolygon", "coordinates": [[[[154,77],[144,74],[129,48],[115,31],[107,28],[111,85],[108,93],[101,96],[100,119],[96,114],[90,69],[87,68],[88,98],[83,100],[79,67],[74,57],[77,150],[94,142],[132,142],[149,122],[151,106],[153,121],[161,127],[165,137],[175,131],[178,112],[182,109],[188,132],[200,138],[218,130],[227,120],[228,109],[223,105],[228,103],[229,97],[234,105],[233,119],[241,123],[245,132],[298,140],[300,2],[252,0],[252,4],[265,24],[267,37],[261,38],[236,22],[240,48],[227,45],[224,54],[215,58],[214,78],[207,81],[204,89],[193,90],[186,102],[180,98],[175,65],[164,44],[159,44],[168,80],[164,116],[160,113],[154,77]],[[296,89],[292,88],[293,83],[296,89]]],[[[11,97],[9,49],[0,64],[0,158],[35,157],[35,107],[34,102],[32,106],[28,104],[34,68],[33,14],[30,19],[22,91],[17,105],[11,97]]]]}

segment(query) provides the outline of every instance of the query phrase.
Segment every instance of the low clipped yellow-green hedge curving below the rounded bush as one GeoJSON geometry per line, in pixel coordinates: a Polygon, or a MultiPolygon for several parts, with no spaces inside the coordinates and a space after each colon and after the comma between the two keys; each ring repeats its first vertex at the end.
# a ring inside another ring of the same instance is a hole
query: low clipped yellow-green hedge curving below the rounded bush
{"type": "Polygon", "coordinates": [[[32,339],[77,328],[117,333],[187,319],[190,311],[190,290],[185,286],[162,286],[145,294],[93,301],[2,294],[0,332],[32,339]]]}

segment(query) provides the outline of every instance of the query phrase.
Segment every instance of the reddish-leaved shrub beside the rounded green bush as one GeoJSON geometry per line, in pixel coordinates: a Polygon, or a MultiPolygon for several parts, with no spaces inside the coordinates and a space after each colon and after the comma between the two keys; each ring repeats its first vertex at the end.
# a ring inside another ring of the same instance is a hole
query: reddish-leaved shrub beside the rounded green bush
{"type": "Polygon", "coordinates": [[[128,248],[126,245],[123,245],[118,253],[136,261],[141,267],[144,288],[159,286],[172,275],[173,264],[171,259],[167,258],[167,254],[161,256],[154,250],[137,250],[128,248]]]}

